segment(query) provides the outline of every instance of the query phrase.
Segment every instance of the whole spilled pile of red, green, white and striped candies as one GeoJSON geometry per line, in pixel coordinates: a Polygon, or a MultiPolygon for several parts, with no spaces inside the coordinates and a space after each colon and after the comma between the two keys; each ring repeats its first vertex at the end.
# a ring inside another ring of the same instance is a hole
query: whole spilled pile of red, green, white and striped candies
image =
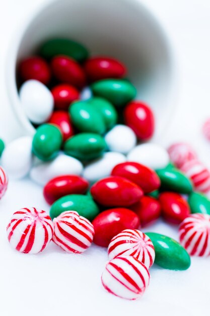
{"type": "MultiPolygon", "coordinates": [[[[51,240],[70,253],[92,242],[108,247],[102,284],[125,299],[145,292],[154,262],[186,270],[189,254],[210,254],[210,200],[199,193],[210,189],[210,173],[187,144],[168,152],[136,145],[153,136],[154,115],[134,100],[122,63],[52,39],[18,75],[22,107],[37,129],[5,149],[0,142],[2,165],[12,178],[30,174],[51,206],[50,216],[35,207],[14,213],[7,233],[16,250],[38,253],[51,240]],[[160,217],[180,225],[180,243],[139,230],[160,217]]],[[[0,197],[7,183],[1,168],[0,197]]]]}

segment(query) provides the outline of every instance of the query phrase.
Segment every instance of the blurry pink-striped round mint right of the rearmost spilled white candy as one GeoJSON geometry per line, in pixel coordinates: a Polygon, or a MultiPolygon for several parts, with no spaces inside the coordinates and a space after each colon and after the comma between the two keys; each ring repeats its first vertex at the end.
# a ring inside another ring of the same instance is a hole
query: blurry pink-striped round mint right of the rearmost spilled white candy
{"type": "Polygon", "coordinates": [[[175,143],[168,148],[170,160],[177,167],[180,168],[184,163],[195,159],[196,153],[192,147],[187,143],[175,143]]]}

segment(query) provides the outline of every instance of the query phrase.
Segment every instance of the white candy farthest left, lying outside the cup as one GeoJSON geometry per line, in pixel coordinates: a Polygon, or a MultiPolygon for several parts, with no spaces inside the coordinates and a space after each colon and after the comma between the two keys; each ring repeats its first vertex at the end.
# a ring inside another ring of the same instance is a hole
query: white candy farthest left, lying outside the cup
{"type": "Polygon", "coordinates": [[[20,137],[9,143],[3,151],[1,164],[9,178],[25,177],[32,166],[32,137],[20,137]]]}

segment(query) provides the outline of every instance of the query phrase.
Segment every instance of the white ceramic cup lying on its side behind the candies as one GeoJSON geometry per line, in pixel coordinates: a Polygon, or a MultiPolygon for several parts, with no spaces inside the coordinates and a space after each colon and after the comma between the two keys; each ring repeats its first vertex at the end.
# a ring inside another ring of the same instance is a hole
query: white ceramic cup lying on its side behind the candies
{"type": "Polygon", "coordinates": [[[78,40],[93,56],[107,55],[123,62],[128,69],[127,77],[137,88],[137,98],[146,101],[155,112],[154,138],[160,138],[175,107],[174,58],[164,30],[138,0],[48,1],[18,31],[10,48],[7,86],[26,134],[33,134],[35,129],[19,99],[17,65],[53,37],[78,40]]]}

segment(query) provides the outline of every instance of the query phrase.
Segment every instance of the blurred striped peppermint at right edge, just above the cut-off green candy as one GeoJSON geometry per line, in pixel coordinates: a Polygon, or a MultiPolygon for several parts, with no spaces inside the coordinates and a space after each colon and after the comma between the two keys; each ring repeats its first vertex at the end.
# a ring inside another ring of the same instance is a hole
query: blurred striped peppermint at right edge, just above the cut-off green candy
{"type": "Polygon", "coordinates": [[[210,172],[198,160],[186,162],[180,170],[191,179],[197,191],[207,193],[210,190],[210,172]]]}

